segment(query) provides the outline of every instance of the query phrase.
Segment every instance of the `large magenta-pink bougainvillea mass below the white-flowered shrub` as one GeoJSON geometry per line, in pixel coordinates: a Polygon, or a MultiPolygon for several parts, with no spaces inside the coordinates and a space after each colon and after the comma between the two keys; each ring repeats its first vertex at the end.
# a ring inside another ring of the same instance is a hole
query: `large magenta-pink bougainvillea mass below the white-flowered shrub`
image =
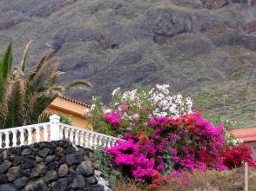
{"type": "Polygon", "coordinates": [[[212,127],[194,113],[152,118],[148,128],[152,128],[150,135],[127,132],[128,141],[105,148],[117,165],[130,167],[137,181],[150,183],[172,170],[226,169],[219,152],[226,141],[221,126],[212,127]]]}

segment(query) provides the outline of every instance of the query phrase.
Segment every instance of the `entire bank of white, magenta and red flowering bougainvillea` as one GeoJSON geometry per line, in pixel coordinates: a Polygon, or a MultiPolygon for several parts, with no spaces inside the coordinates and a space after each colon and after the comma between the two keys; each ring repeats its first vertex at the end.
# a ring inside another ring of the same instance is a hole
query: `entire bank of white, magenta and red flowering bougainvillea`
{"type": "Polygon", "coordinates": [[[90,115],[96,127],[125,139],[104,149],[116,165],[127,168],[142,185],[156,188],[185,171],[226,170],[242,161],[254,164],[250,149],[226,144],[222,125],[213,127],[192,112],[190,98],[170,95],[168,88],[157,85],[125,93],[115,89],[109,108],[94,99],[90,115]]]}

